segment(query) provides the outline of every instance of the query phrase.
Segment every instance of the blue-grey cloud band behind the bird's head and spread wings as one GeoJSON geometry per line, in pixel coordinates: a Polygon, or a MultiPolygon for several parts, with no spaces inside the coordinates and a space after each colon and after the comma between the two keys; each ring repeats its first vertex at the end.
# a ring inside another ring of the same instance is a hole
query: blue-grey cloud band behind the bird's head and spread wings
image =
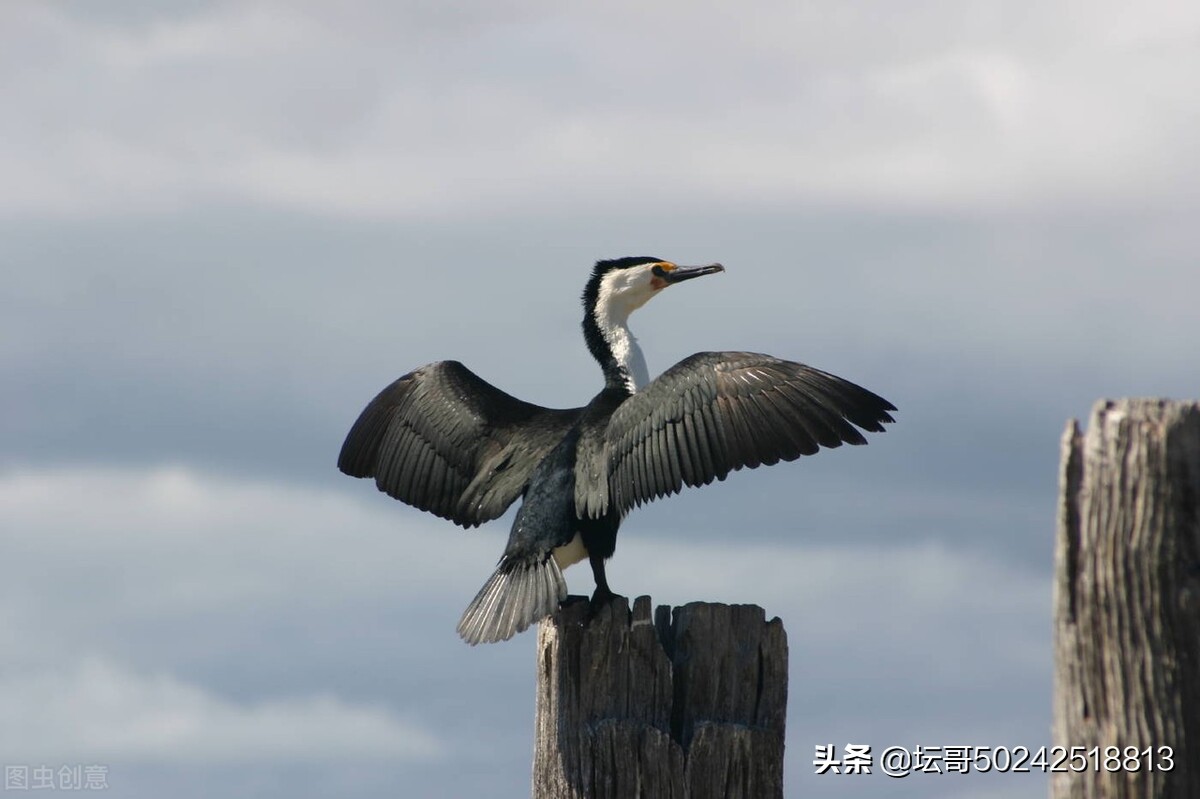
{"type": "MultiPolygon", "coordinates": [[[[584,402],[598,385],[577,326],[588,264],[644,250],[730,269],[635,317],[652,371],[701,349],[756,349],[860,382],[901,411],[864,450],[736,475],[701,492],[713,499],[642,512],[719,534],[736,517],[722,500],[802,485],[805,512],[833,519],[822,494],[887,485],[893,518],[956,540],[970,512],[940,509],[991,495],[1014,511],[985,513],[972,539],[1042,558],[1027,522],[1025,534],[1002,530],[1014,512],[1036,513],[1015,509],[1052,506],[1066,419],[1099,396],[1192,390],[1200,319],[1183,227],[803,208],[442,226],[229,211],[10,224],[0,358],[16,379],[2,457],[185,461],[356,491],[332,467],[341,438],[378,389],[420,364],[455,358],[517,396],[584,402]],[[904,510],[906,492],[930,498],[924,517],[904,510]]],[[[756,529],[787,527],[775,517],[756,529]]],[[[866,529],[840,534],[880,534],[866,529]]]]}

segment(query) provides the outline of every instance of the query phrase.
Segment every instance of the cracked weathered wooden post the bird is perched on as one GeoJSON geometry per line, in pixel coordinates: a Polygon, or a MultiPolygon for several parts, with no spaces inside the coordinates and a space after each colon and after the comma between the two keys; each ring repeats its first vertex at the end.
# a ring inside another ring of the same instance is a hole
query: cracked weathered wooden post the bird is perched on
{"type": "Polygon", "coordinates": [[[787,633],[754,605],[570,597],[538,632],[535,799],[784,795],[787,633]]]}

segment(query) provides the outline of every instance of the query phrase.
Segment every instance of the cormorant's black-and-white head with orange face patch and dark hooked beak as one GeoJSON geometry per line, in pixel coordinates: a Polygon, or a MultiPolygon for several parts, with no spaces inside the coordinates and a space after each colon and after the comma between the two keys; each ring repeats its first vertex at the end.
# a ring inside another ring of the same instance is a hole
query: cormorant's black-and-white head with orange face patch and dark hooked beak
{"type": "Polygon", "coordinates": [[[601,260],[583,289],[583,305],[589,316],[624,323],[666,287],[724,271],[720,264],[679,266],[649,256],[601,260]]]}

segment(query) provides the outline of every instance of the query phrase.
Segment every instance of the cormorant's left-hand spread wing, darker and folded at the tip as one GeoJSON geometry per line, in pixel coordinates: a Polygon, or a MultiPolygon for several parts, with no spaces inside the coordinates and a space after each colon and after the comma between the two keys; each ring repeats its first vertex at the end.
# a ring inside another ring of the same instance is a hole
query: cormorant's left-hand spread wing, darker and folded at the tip
{"type": "Polygon", "coordinates": [[[397,379],[354,422],[337,468],[462,527],[512,504],[580,409],[509,396],[457,361],[397,379]]]}

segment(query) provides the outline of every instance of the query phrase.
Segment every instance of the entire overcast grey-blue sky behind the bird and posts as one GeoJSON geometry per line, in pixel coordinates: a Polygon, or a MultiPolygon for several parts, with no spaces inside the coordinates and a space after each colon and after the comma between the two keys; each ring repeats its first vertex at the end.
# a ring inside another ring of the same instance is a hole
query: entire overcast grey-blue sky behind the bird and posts
{"type": "MultiPolygon", "coordinates": [[[[817,744],[1049,744],[1058,437],[1196,398],[1200,8],[1122,2],[0,6],[0,762],[109,794],[528,794],[533,647],[468,648],[511,516],[340,475],[455,358],[600,386],[598,258],[720,260],[650,371],[750,349],[899,405],[626,519],[613,588],[755,602],[817,744]]],[[[566,573],[592,590],[587,570],[566,573]]]]}

